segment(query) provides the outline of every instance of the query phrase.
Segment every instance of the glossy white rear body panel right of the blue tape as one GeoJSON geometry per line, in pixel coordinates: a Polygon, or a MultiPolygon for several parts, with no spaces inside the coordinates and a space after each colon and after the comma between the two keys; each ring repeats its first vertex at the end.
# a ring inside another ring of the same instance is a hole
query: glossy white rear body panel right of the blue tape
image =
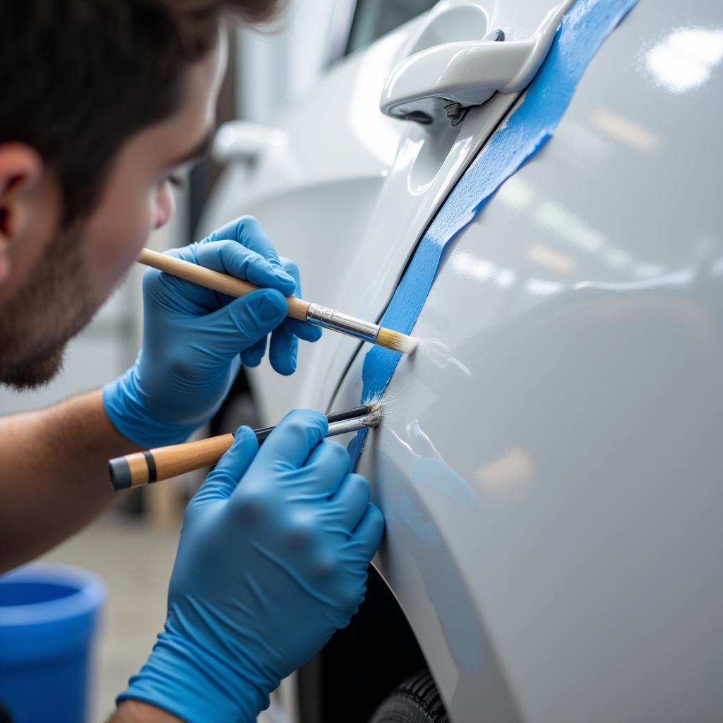
{"type": "Polygon", "coordinates": [[[376,565],[455,723],[720,719],[722,58],[716,4],[633,9],[390,383],[376,565]]]}

